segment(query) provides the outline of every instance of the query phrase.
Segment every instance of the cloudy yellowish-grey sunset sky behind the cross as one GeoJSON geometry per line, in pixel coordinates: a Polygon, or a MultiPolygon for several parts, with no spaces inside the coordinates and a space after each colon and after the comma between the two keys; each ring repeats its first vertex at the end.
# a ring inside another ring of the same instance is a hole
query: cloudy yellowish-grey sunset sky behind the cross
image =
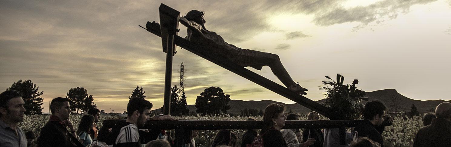
{"type": "MultiPolygon", "coordinates": [[[[336,74],[367,92],[451,100],[451,0],[1,0],[0,88],[31,79],[46,112],[52,98],[85,87],[98,108],[121,112],[139,85],[160,108],[166,55],[138,25],[158,22],[162,2],[181,14],[205,11],[206,28],[230,44],[279,55],[312,100],[336,74]]],[[[294,103],[180,48],[172,85],[181,62],[188,104],[210,86],[231,99],[294,103]]],[[[249,69],[281,84],[268,67],[249,69]]]]}

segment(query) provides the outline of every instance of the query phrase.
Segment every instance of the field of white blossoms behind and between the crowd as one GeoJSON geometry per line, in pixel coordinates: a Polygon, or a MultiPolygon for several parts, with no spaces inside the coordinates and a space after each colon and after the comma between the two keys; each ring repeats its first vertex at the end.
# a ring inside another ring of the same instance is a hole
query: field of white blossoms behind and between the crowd
{"type": "MultiPolygon", "coordinates": [[[[78,126],[81,115],[71,115],[69,120],[72,121],[74,127],[78,126]]],[[[192,119],[192,120],[246,120],[248,117],[233,116],[228,115],[221,116],[180,116],[177,119],[192,119]]],[[[253,117],[257,120],[262,120],[261,116],[253,117]]],[[[40,129],[48,121],[48,115],[29,115],[25,116],[25,119],[19,123],[19,126],[24,132],[33,131],[35,136],[39,136],[40,129]]],[[[101,116],[100,122],[97,126],[101,127],[103,119],[121,119],[118,116],[101,116]]],[[[301,120],[306,120],[306,116],[302,116],[301,120]]],[[[325,119],[325,118],[322,118],[325,119]]],[[[382,134],[384,138],[385,147],[409,147],[413,144],[413,139],[418,130],[423,126],[422,118],[419,116],[414,116],[413,118],[403,119],[400,116],[395,116],[393,125],[385,128],[382,134]]],[[[173,130],[172,130],[173,131],[173,130]]],[[[199,130],[198,137],[194,138],[196,140],[197,147],[208,147],[213,141],[213,138],[217,130],[199,130]]],[[[232,130],[232,132],[237,134],[237,146],[241,144],[241,136],[246,130],[232,130]]],[[[175,133],[172,133],[175,134],[175,133]]]]}

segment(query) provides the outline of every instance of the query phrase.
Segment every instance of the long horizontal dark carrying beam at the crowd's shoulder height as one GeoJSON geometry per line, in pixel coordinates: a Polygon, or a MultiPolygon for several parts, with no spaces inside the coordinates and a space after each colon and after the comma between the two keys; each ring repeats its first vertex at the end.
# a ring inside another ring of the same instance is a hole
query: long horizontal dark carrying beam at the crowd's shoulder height
{"type": "MultiPolygon", "coordinates": [[[[113,128],[115,125],[125,122],[126,119],[105,119],[103,125],[113,128]]],[[[283,129],[299,128],[350,128],[364,119],[356,120],[287,120],[283,129]]],[[[263,129],[263,121],[232,121],[232,120],[147,120],[143,128],[140,129],[263,129]]]]}

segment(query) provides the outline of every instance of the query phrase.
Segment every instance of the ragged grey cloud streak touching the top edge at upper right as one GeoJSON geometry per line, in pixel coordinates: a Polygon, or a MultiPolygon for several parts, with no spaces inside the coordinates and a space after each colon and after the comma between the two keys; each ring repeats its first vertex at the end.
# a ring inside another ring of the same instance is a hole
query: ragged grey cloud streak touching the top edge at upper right
{"type": "Polygon", "coordinates": [[[350,9],[339,7],[326,12],[316,13],[313,23],[330,26],[341,23],[359,22],[354,31],[364,28],[368,23],[381,23],[384,20],[395,19],[399,13],[408,13],[412,5],[424,5],[437,0],[383,0],[368,6],[358,6],[350,9]]]}

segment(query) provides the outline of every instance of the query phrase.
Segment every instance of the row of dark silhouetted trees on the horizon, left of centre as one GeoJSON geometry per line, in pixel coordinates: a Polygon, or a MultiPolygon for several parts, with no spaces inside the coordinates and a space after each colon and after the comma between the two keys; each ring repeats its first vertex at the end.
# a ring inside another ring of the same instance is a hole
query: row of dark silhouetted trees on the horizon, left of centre
{"type": "MultiPolygon", "coordinates": [[[[26,109],[26,115],[42,114],[43,108],[41,106],[43,104],[43,98],[41,95],[44,94],[44,92],[39,91],[39,87],[32,83],[31,80],[18,80],[6,90],[16,90],[22,93],[23,101],[25,101],[24,107],[26,109]]],[[[180,89],[177,86],[171,88],[171,115],[189,115],[190,112],[186,107],[188,105],[186,101],[187,96],[185,92],[180,93],[179,91],[180,89]]],[[[66,93],[65,97],[69,98],[71,106],[70,109],[76,113],[83,113],[89,108],[96,107],[96,104],[94,104],[94,97],[92,95],[88,95],[87,90],[83,87],[74,87],[69,89],[69,92],[66,93]]],[[[132,91],[129,99],[132,97],[141,97],[145,99],[147,96],[145,95],[143,87],[137,86],[132,91]]],[[[225,94],[220,87],[208,87],[196,98],[197,110],[195,114],[226,114],[227,110],[230,109],[230,106],[228,105],[229,101],[230,95],[225,94]]],[[[193,113],[194,112],[191,114],[193,113]]]]}

